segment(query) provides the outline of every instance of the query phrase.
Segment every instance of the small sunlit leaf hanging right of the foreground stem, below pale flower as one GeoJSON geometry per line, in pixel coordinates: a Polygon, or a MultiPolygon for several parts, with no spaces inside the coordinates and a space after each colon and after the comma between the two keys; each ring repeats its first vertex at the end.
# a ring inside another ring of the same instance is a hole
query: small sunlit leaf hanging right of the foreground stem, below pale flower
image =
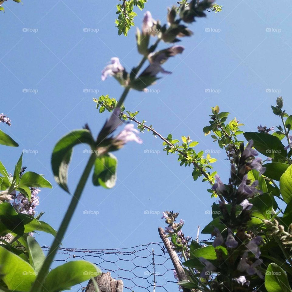
{"type": "Polygon", "coordinates": [[[116,157],[108,153],[96,158],[92,183],[94,186],[103,186],[110,189],[116,184],[116,157]]]}

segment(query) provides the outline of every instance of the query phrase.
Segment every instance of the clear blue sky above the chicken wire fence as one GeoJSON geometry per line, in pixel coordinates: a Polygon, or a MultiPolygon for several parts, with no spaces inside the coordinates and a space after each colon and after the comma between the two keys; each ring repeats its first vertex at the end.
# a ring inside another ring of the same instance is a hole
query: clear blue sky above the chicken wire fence
{"type": "MultiPolygon", "coordinates": [[[[99,114],[92,98],[109,94],[119,98],[122,88],[114,78],[101,82],[101,70],[111,57],[119,57],[126,69],[140,60],[135,46],[135,30],[128,37],[118,36],[114,26],[116,0],[106,2],[8,1],[1,13],[0,70],[1,110],[12,120],[2,125],[20,145],[1,149],[1,160],[12,172],[23,149],[37,151],[24,155],[24,165],[44,174],[53,189],[42,189],[38,211],[43,220],[58,228],[71,197],[54,183],[50,155],[58,139],[88,123],[96,135],[109,115],[99,114]],[[94,31],[84,31],[91,28],[94,31]],[[84,89],[92,89],[84,92],[84,89]],[[24,91],[24,92],[23,92],[24,91]],[[28,91],[28,92],[25,92],[28,91]],[[97,92],[97,93],[94,93],[97,92]]],[[[148,1],[145,5],[155,19],[166,21],[169,0],[148,1]]],[[[236,117],[246,131],[259,124],[280,124],[270,105],[282,95],[292,113],[292,4],[273,1],[218,1],[220,13],[208,13],[190,25],[194,35],[182,39],[182,55],[164,64],[171,75],[162,75],[150,89],[131,91],[125,106],[140,110],[138,120],[146,120],[155,130],[174,137],[190,135],[199,141],[197,150],[218,150],[202,128],[208,125],[210,106],[236,117]],[[211,92],[208,92],[211,91],[211,92]]],[[[143,12],[135,22],[141,26],[143,12]]],[[[168,47],[161,43],[159,48],[168,47]]],[[[115,153],[118,180],[111,190],[94,187],[89,181],[82,195],[65,247],[123,248],[159,242],[157,232],[165,223],[161,215],[144,214],[151,210],[180,211],[186,221],[186,235],[194,237],[196,226],[211,220],[205,214],[214,202],[206,183],[193,181],[191,168],[180,167],[176,155],[162,151],[162,141],[145,132],[143,144],[127,144],[115,153]],[[145,150],[160,151],[147,154],[145,150]],[[85,210],[98,215],[83,214],[85,210]]],[[[243,139],[243,137],[242,137],[243,139]]],[[[70,166],[69,187],[73,191],[88,154],[84,146],[75,148],[70,166]]],[[[224,151],[213,154],[214,168],[225,181],[229,163],[224,151]]],[[[50,235],[36,236],[41,245],[50,245],[50,235]]],[[[204,237],[201,237],[202,239],[204,237]]]]}

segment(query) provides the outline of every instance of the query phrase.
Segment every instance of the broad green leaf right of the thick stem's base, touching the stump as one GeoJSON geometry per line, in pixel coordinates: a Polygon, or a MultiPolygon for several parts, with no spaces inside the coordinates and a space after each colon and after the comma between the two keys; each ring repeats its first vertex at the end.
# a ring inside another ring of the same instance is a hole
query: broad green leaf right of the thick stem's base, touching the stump
{"type": "Polygon", "coordinates": [[[87,261],[67,262],[47,275],[44,291],[56,292],[89,280],[101,274],[99,268],[87,261]]]}

